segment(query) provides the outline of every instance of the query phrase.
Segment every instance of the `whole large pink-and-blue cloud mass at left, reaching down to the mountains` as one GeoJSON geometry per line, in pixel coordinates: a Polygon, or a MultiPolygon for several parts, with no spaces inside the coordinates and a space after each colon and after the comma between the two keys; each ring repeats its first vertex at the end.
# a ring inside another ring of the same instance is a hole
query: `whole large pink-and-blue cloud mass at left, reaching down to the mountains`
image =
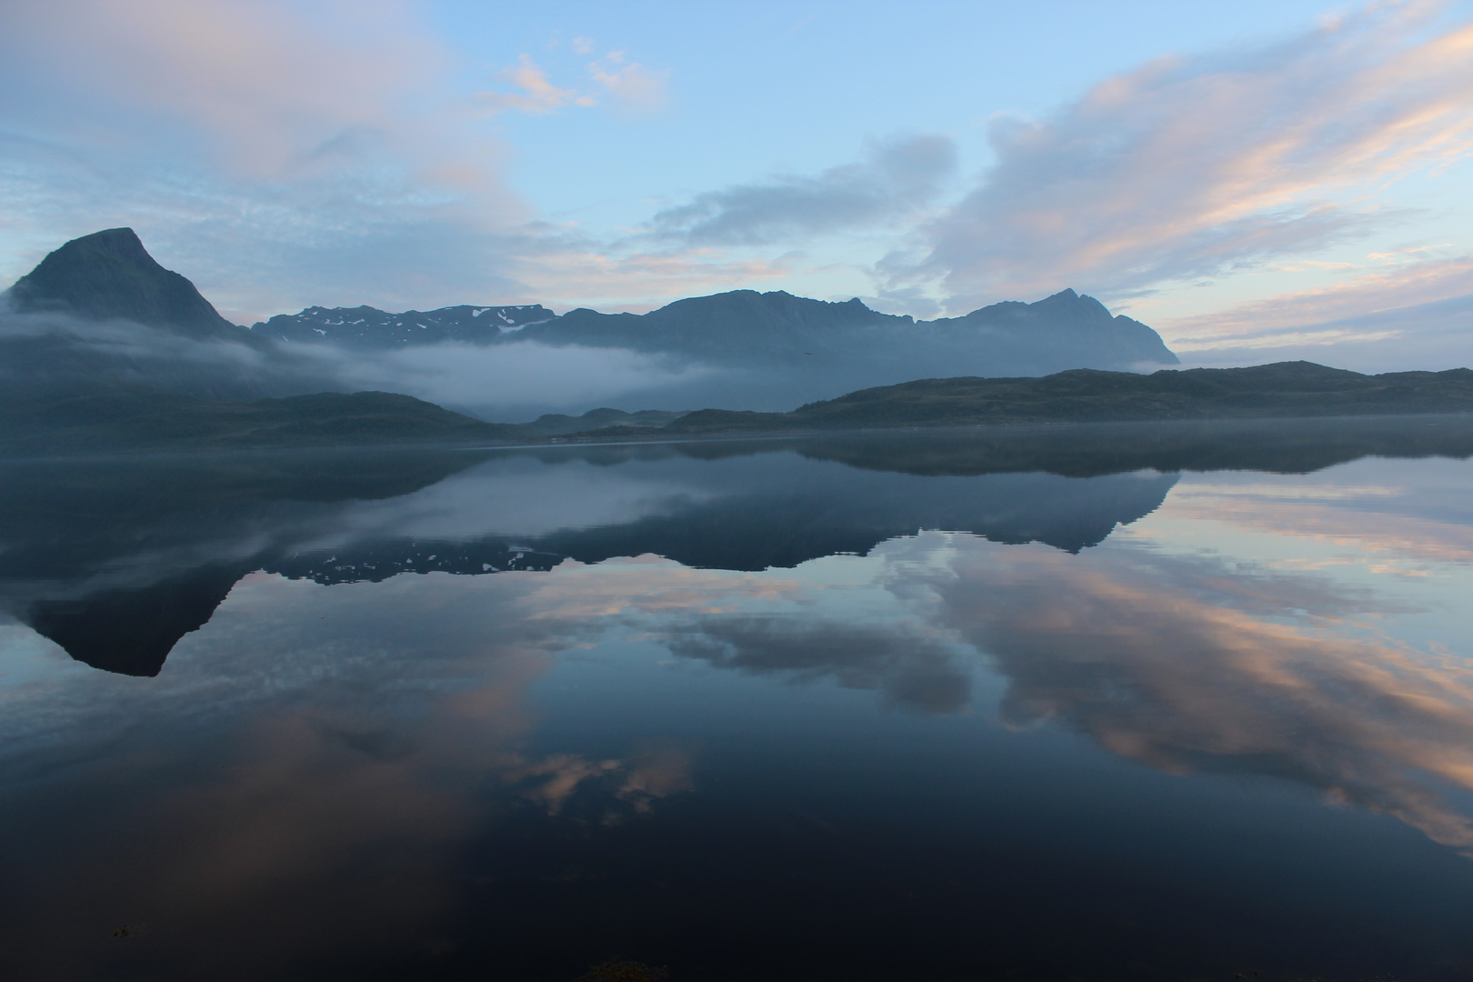
{"type": "Polygon", "coordinates": [[[420,18],[387,0],[0,6],[12,234],[38,259],[136,227],[240,319],[523,297],[508,268],[530,209],[420,18]]]}

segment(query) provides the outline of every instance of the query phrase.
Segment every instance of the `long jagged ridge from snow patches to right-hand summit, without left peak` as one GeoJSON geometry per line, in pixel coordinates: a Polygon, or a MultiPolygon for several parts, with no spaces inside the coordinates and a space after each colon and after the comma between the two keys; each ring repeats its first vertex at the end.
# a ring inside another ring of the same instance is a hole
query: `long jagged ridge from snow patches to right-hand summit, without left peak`
{"type": "Polygon", "coordinates": [[[579,308],[555,317],[542,306],[386,314],[368,306],[314,306],[250,330],[262,337],[368,349],[460,340],[636,350],[722,370],[776,371],[776,378],[769,374],[753,383],[797,399],[804,392],[807,398],[818,395],[815,386],[843,392],[941,371],[1025,375],[1178,364],[1153,330],[1128,317],[1111,317],[1099,300],[1074,290],[1037,303],[996,303],[966,317],[919,322],[879,314],[859,299],[829,303],[781,290],[732,290],[676,300],[648,314],[579,308]]]}

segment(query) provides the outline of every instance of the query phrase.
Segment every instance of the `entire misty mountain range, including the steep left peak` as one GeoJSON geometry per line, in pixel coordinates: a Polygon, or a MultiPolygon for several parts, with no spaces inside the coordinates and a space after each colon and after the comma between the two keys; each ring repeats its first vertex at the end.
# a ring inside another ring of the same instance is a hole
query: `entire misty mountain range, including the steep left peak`
{"type": "Polygon", "coordinates": [[[583,412],[579,392],[600,365],[619,381],[600,377],[592,387],[617,390],[627,405],[790,409],[910,378],[1177,364],[1149,327],[1112,317],[1072,290],[937,321],[881,314],[859,299],[734,290],[648,314],[580,308],[558,317],[541,305],[402,314],[309,306],[242,328],[149,256],[130,228],[63,244],[21,277],[7,300],[0,309],[0,378],[47,380],[77,392],[146,384],[228,399],[355,389],[437,399],[457,392],[458,405],[492,418],[583,412]],[[445,342],[485,352],[465,359],[432,350],[445,342]],[[518,371],[542,378],[510,389],[486,381],[499,368],[496,346],[520,343],[541,350],[518,347],[507,365],[530,365],[518,371]],[[620,353],[601,361],[600,353],[545,350],[573,346],[620,353]],[[415,355],[399,358],[407,350],[415,355]]]}

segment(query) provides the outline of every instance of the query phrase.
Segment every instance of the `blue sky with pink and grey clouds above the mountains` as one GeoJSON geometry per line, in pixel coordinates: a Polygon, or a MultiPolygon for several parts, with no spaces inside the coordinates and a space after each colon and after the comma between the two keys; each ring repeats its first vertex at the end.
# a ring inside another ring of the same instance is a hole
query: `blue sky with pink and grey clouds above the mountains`
{"type": "Polygon", "coordinates": [[[0,0],[0,283],[222,314],[1065,287],[1187,365],[1473,365],[1473,0],[0,0]]]}

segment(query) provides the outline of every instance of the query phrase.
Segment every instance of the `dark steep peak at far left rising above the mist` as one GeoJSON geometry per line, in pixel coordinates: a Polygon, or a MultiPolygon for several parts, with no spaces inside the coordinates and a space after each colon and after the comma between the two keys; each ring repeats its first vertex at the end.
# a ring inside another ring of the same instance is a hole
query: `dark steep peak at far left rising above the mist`
{"type": "Polygon", "coordinates": [[[193,283],[155,262],[131,228],[71,240],[16,280],[9,297],[21,312],[122,318],[194,337],[242,340],[246,334],[222,318],[193,283]]]}

